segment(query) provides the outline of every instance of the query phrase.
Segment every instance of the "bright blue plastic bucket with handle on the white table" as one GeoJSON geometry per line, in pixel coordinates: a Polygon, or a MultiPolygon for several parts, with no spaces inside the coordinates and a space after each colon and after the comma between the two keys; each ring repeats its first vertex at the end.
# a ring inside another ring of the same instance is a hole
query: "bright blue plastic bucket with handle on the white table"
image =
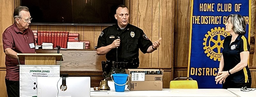
{"type": "MultiPolygon", "coordinates": [[[[115,91],[116,92],[124,92],[125,84],[127,84],[127,82],[128,82],[128,81],[126,82],[126,80],[129,75],[118,73],[118,74],[112,74],[112,76],[114,78],[115,91]]],[[[129,78],[128,78],[128,80],[129,80],[129,78]]]]}

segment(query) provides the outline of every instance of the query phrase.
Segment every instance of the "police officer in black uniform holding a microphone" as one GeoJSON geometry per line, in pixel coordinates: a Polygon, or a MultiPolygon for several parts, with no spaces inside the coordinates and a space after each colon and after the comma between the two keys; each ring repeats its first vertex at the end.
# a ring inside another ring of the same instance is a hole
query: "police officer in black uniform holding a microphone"
{"type": "Polygon", "coordinates": [[[124,5],[116,9],[117,25],[105,28],[98,39],[97,55],[106,54],[106,64],[103,71],[106,77],[112,73],[125,73],[125,69],[139,67],[139,48],[141,52],[151,53],[160,45],[158,41],[151,42],[143,30],[128,23],[129,10],[124,5]]]}

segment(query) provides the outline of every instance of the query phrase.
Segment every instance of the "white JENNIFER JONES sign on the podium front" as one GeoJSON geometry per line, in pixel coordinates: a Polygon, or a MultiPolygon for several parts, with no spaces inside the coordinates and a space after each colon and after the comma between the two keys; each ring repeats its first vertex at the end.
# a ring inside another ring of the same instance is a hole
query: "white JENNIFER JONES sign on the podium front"
{"type": "Polygon", "coordinates": [[[60,77],[60,65],[20,65],[20,97],[37,96],[36,77],[60,77]]]}

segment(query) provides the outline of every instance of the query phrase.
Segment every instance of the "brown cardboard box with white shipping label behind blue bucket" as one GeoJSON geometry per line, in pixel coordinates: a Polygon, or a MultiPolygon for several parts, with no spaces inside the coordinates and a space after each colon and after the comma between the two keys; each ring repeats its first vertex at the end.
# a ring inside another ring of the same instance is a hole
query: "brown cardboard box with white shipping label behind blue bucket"
{"type": "Polygon", "coordinates": [[[128,88],[130,91],[136,90],[162,90],[163,73],[162,69],[128,69],[128,88]]]}

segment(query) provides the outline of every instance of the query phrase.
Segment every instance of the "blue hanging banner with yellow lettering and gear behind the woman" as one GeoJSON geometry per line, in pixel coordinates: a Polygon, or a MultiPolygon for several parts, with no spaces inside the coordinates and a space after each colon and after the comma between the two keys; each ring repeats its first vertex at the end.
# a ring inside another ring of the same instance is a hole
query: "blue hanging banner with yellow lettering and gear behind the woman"
{"type": "MultiPolygon", "coordinates": [[[[214,77],[219,71],[222,43],[226,36],[227,16],[240,14],[246,21],[246,38],[251,31],[251,0],[192,0],[188,77],[198,88],[222,88],[214,77]]],[[[250,42],[250,39],[248,39],[250,42]]]]}

